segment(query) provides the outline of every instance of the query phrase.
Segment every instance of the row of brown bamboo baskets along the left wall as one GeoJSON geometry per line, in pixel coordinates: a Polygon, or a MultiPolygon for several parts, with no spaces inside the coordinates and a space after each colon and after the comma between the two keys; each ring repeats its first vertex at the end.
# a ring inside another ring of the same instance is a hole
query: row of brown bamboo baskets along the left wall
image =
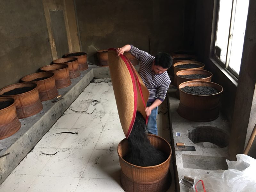
{"type": "Polygon", "coordinates": [[[19,119],[33,116],[43,109],[42,101],[58,96],[58,89],[68,87],[72,78],[80,76],[80,71],[88,69],[87,54],[69,53],[65,58],[52,61],[52,65],[40,68],[39,73],[21,78],[18,84],[6,86],[0,90],[0,102],[7,102],[8,107],[0,109],[0,139],[11,136],[20,127],[19,119]],[[30,91],[6,95],[14,89],[32,87],[30,91]]]}

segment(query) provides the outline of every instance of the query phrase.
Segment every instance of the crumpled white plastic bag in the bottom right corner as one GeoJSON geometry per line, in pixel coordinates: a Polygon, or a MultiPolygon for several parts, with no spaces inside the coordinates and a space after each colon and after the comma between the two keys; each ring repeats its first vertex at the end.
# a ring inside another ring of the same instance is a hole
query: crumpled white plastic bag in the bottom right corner
{"type": "Polygon", "coordinates": [[[256,159],[244,154],[236,158],[237,161],[226,160],[228,170],[223,173],[195,178],[194,192],[256,192],[256,159]]]}

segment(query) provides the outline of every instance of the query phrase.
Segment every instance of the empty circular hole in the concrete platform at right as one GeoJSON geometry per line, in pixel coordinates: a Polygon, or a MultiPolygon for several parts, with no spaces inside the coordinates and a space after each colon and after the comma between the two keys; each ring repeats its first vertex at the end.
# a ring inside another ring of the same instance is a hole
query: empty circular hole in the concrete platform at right
{"type": "Polygon", "coordinates": [[[228,132],[212,126],[196,126],[188,130],[188,138],[204,148],[224,148],[228,146],[228,132]]]}

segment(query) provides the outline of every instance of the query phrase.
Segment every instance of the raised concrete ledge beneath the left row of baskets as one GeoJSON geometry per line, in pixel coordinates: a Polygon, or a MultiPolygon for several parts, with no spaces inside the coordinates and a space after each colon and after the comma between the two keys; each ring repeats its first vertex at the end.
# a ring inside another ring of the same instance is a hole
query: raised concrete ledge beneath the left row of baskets
{"type": "MultiPolygon", "coordinates": [[[[135,67],[139,69],[139,65],[135,67]]],[[[71,79],[72,84],[59,89],[62,100],[52,103],[44,101],[43,110],[34,116],[20,119],[21,128],[12,136],[0,140],[0,184],[7,178],[20,161],[60,118],[93,78],[110,78],[108,67],[89,65],[89,69],[81,71],[81,75],[71,79]]]]}

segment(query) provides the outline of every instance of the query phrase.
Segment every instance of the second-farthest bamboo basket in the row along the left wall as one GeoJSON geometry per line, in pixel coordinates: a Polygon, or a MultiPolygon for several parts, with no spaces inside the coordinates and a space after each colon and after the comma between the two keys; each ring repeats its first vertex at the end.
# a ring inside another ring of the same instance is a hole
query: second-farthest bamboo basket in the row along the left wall
{"type": "Polygon", "coordinates": [[[69,71],[69,78],[73,79],[80,76],[78,59],[74,57],[60,58],[52,61],[54,64],[67,64],[69,71]]]}

